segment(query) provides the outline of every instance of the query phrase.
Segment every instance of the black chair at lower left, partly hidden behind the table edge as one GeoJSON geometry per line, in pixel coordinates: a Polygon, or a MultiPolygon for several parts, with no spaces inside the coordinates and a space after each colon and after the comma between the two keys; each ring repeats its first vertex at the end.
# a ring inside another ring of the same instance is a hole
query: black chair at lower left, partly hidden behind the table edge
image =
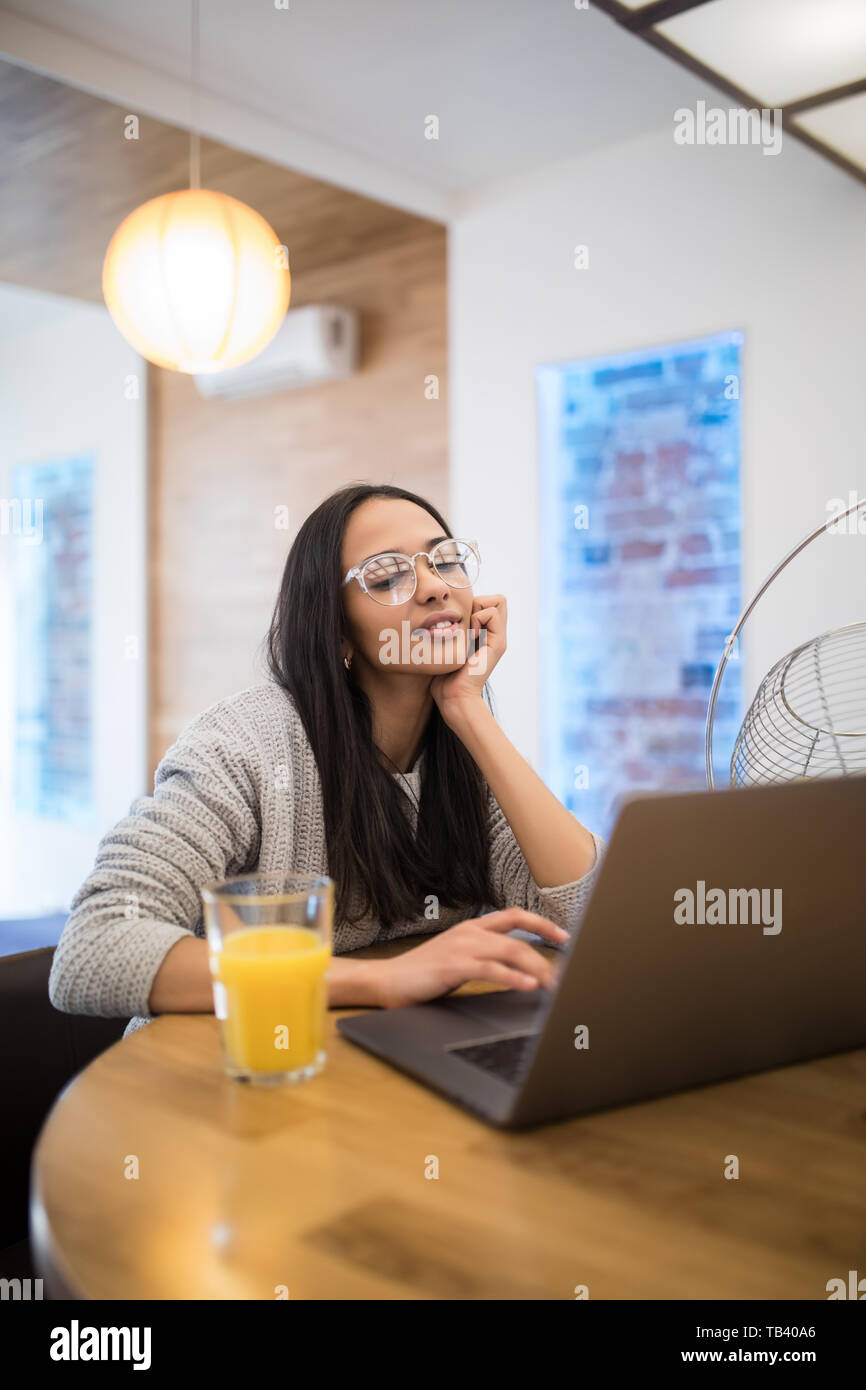
{"type": "Polygon", "coordinates": [[[38,1277],[29,1248],[31,1159],[60,1091],[117,1042],[129,1019],[61,1013],[49,999],[54,947],[0,956],[0,1277],[38,1277]]]}

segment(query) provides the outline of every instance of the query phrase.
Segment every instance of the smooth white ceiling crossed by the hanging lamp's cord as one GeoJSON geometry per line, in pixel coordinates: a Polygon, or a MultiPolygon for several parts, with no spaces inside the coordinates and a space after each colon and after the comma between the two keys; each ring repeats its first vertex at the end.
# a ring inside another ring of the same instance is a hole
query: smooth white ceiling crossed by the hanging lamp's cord
{"type": "MultiPolygon", "coordinates": [[[[0,0],[0,53],[189,121],[188,0],[0,0]]],[[[442,221],[468,190],[670,126],[706,95],[571,0],[202,0],[200,86],[210,135],[442,221]]]]}

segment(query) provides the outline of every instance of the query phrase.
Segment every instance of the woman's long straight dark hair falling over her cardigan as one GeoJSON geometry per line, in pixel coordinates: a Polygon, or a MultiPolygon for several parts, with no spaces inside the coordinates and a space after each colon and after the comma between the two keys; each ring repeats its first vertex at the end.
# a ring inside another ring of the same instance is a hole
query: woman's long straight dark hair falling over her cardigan
{"type": "MultiPolygon", "coordinates": [[[[499,906],[489,881],[488,785],[434,705],[424,742],[417,835],[403,790],[379,762],[370,701],[343,666],[341,552],[349,516],[368,498],[414,502],[450,535],[430,502],[388,484],[341,488],[307,517],[285,563],[267,634],[270,674],[295,701],[322,790],[335,916],[382,927],[443,906],[499,906]]],[[[489,701],[488,701],[489,703],[489,701]]]]}

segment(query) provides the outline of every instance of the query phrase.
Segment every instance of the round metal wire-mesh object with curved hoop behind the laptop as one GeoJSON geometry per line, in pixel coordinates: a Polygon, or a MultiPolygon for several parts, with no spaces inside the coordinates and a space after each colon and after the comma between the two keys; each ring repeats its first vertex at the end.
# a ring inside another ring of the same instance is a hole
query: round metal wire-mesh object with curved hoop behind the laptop
{"type": "MultiPolygon", "coordinates": [[[[713,791],[713,719],[734,642],[758,600],[791,560],[866,498],[816,527],[776,566],[724,644],[706,712],[706,781],[713,791]]],[[[866,771],[866,621],[796,646],[767,671],[734,744],[731,785],[845,777],[866,771]]]]}

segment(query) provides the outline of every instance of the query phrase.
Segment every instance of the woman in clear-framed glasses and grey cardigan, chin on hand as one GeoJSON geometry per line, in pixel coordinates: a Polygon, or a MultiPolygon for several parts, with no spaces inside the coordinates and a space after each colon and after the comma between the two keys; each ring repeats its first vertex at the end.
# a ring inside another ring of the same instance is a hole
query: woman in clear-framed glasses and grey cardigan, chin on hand
{"type": "Polygon", "coordinates": [[[256,869],[334,878],[331,1006],[552,986],[507,933],[566,941],[605,847],[485,702],[506,600],[474,595],[477,573],[474,542],[402,488],[353,485],[313,512],[282,575],[270,678],[193,719],[153,796],[100,841],[54,954],[56,1008],[132,1015],[126,1033],[213,1011],[200,888],[256,869]],[[392,959],[343,959],[417,933],[430,940],[392,959]]]}

